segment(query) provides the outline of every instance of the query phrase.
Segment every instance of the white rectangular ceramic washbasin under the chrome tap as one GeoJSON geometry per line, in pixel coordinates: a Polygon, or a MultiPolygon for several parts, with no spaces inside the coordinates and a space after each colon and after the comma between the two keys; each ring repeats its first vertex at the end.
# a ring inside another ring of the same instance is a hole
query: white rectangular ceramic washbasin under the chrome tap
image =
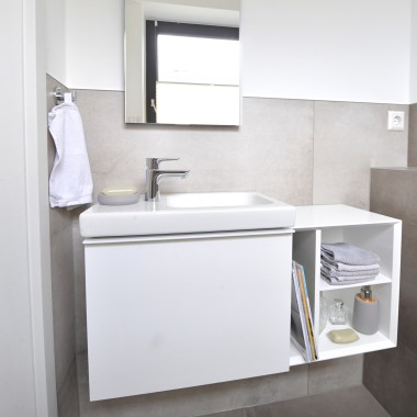
{"type": "Polygon", "coordinates": [[[170,235],[291,227],[295,207],[257,192],[162,194],[159,202],[95,204],[80,215],[83,237],[170,235]]]}

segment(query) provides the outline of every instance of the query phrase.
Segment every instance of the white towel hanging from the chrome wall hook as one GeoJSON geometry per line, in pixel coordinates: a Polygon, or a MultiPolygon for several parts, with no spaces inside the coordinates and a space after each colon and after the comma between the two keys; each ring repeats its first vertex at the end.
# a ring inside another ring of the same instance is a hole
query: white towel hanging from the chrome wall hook
{"type": "Polygon", "coordinates": [[[52,207],[92,202],[92,178],[82,121],[75,103],[56,105],[48,114],[56,156],[49,178],[52,207]]]}

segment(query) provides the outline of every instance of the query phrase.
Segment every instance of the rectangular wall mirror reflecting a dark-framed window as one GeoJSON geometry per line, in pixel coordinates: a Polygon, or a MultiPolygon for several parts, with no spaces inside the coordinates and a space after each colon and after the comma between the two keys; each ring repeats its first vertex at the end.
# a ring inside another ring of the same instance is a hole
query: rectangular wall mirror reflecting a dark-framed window
{"type": "Polygon", "coordinates": [[[125,122],[239,125],[239,9],[125,0],[125,122]]]}

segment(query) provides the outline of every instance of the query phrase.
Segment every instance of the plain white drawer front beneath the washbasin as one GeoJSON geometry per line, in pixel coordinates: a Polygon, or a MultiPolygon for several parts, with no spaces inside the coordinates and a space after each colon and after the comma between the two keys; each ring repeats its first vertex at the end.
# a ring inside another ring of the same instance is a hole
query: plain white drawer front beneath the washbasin
{"type": "Polygon", "coordinates": [[[289,370],[292,236],[86,247],[90,398],[289,370]]]}

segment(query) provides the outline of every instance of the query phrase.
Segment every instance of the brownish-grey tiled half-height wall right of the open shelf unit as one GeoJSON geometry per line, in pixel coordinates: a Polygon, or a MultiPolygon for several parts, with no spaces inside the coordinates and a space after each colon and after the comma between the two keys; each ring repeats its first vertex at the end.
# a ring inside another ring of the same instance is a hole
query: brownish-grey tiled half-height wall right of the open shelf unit
{"type": "Polygon", "coordinates": [[[363,382],[393,417],[417,409],[416,169],[373,169],[371,210],[403,219],[398,346],[365,354],[363,382]]]}

